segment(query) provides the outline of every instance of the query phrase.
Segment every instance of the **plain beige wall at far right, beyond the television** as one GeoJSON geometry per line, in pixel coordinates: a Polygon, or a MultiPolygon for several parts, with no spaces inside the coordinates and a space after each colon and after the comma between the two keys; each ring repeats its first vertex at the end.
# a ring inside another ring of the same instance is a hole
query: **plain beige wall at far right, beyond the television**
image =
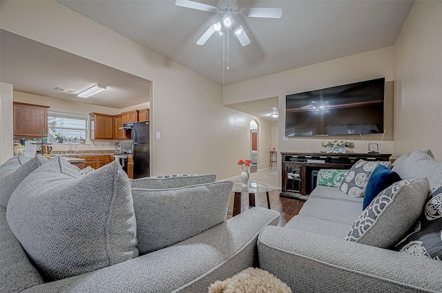
{"type": "Polygon", "coordinates": [[[395,49],[394,153],[442,159],[442,1],[416,1],[395,49]]]}

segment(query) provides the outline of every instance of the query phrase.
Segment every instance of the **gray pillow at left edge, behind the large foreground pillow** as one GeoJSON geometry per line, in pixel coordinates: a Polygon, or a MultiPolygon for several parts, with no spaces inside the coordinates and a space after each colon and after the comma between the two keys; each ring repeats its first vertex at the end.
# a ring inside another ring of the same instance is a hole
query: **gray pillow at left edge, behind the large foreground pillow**
{"type": "Polygon", "coordinates": [[[8,206],[8,201],[15,188],[39,166],[48,161],[41,154],[28,158],[24,154],[18,154],[0,166],[0,205],[8,206]]]}

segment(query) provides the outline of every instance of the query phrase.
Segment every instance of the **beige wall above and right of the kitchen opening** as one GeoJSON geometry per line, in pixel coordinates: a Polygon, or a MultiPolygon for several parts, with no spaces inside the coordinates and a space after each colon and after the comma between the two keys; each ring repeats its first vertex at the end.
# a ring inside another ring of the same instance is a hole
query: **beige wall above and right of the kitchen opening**
{"type": "Polygon", "coordinates": [[[153,82],[151,174],[239,173],[254,117],[225,107],[221,85],[55,1],[0,5],[1,28],[153,82]]]}

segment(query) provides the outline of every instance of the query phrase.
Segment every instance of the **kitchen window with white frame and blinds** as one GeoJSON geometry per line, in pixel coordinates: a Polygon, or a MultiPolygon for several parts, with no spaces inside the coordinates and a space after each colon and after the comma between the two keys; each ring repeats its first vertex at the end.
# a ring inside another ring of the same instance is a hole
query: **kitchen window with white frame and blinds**
{"type": "Polygon", "coordinates": [[[48,140],[53,143],[86,143],[88,125],[88,115],[48,111],[48,140]]]}

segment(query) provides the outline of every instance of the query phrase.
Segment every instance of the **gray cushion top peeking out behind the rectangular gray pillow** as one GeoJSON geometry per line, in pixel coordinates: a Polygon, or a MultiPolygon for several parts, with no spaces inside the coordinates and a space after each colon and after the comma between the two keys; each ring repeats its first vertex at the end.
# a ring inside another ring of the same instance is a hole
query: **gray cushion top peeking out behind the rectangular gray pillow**
{"type": "Polygon", "coordinates": [[[164,188],[182,188],[184,186],[198,185],[215,182],[215,174],[206,175],[166,175],[145,177],[140,179],[131,179],[132,188],[164,189],[164,188]]]}

